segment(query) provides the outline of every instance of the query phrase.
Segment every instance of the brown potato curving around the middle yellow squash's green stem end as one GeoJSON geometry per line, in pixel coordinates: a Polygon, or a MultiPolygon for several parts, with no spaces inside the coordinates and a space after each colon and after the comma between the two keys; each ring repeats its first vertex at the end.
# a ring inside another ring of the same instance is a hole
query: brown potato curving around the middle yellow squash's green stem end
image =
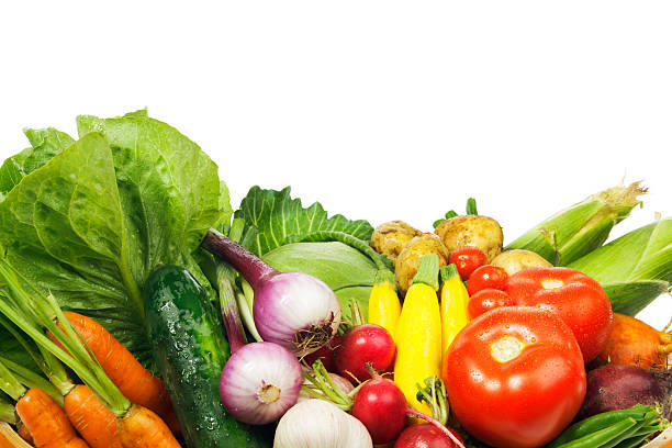
{"type": "Polygon", "coordinates": [[[394,278],[402,294],[405,294],[411,288],[413,277],[415,277],[419,266],[419,259],[426,254],[438,255],[439,266],[446,266],[450,257],[444,243],[434,234],[425,233],[411,239],[394,261],[394,278]]]}

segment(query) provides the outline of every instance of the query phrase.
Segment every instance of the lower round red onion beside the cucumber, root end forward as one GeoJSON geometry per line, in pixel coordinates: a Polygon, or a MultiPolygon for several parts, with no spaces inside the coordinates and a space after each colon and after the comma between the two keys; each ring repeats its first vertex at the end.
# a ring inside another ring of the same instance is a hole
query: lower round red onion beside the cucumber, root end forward
{"type": "Polygon", "coordinates": [[[236,419],[264,425],[296,403],[302,382],[301,365],[287,348],[267,341],[247,344],[224,366],[220,396],[236,419]]]}

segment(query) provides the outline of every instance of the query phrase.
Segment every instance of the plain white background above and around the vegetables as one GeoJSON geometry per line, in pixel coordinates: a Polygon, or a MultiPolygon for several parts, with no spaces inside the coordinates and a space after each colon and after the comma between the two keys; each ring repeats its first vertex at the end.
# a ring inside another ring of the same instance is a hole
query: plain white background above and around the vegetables
{"type": "MultiPolygon", "coordinates": [[[[0,156],[24,126],[148,108],[249,187],[430,229],[469,197],[512,240],[625,179],[672,214],[670,1],[14,1],[0,156]]],[[[672,299],[640,317],[662,328],[672,299]]]]}

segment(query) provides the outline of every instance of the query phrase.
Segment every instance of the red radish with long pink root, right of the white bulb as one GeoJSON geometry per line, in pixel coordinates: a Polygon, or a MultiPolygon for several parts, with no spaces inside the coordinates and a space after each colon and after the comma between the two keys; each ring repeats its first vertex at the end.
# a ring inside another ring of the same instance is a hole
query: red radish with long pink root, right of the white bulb
{"type": "Polygon", "coordinates": [[[438,421],[410,408],[399,387],[382,377],[376,377],[360,387],[355,395],[351,413],[367,427],[373,444],[388,444],[399,437],[408,415],[429,422],[437,430],[453,440],[457,447],[464,448],[464,445],[438,421]]]}

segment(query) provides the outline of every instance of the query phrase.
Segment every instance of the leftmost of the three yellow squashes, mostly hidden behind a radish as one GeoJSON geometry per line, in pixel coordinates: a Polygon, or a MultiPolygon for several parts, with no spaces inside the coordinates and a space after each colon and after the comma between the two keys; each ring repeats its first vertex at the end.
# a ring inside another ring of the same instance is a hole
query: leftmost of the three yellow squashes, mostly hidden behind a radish
{"type": "Polygon", "coordinates": [[[369,324],[385,328],[396,340],[396,325],[401,315],[401,303],[394,288],[394,275],[380,270],[369,295],[369,324]]]}

